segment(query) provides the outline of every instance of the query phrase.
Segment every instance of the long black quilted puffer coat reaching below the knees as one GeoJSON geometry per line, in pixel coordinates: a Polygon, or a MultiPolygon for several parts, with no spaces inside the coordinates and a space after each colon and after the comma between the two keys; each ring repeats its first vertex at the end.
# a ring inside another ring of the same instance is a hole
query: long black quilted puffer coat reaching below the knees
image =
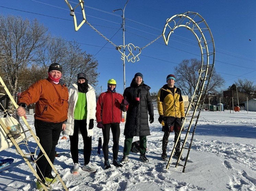
{"type": "Polygon", "coordinates": [[[129,107],[127,110],[126,123],[125,123],[125,136],[148,136],[150,116],[154,116],[152,99],[150,95],[150,87],[142,81],[138,86],[135,78],[132,79],[130,87],[124,91],[124,98],[128,101],[129,107]],[[136,97],[140,101],[136,101],[136,97]]]}

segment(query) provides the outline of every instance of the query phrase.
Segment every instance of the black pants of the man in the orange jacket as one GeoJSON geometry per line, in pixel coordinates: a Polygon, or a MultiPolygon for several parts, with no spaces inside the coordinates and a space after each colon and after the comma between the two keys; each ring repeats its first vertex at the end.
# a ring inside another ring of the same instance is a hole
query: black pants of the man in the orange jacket
{"type": "MultiPolygon", "coordinates": [[[[51,163],[54,163],[55,159],[55,147],[58,144],[58,140],[60,138],[60,133],[62,130],[61,123],[50,123],[41,120],[35,120],[35,129],[36,129],[36,136],[39,138],[39,142],[42,145],[45,153],[49,157],[51,163]]],[[[37,158],[41,156],[43,152],[40,150],[37,158]]],[[[38,176],[43,180],[43,177],[48,177],[51,174],[51,166],[47,162],[45,156],[42,156],[36,162],[36,172],[38,176]],[[40,171],[42,174],[40,173],[40,171]]],[[[44,181],[44,180],[43,180],[44,181]]]]}

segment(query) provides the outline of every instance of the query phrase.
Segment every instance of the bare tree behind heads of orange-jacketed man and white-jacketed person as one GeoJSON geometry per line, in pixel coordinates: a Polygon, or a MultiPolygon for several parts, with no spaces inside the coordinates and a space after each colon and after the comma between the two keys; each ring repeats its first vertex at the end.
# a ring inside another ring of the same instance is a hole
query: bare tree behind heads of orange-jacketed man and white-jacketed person
{"type": "Polygon", "coordinates": [[[95,86],[99,73],[96,71],[98,61],[93,55],[82,51],[76,41],[68,42],[61,37],[48,37],[44,47],[38,52],[38,62],[40,65],[48,67],[51,63],[59,63],[63,67],[62,79],[69,87],[77,81],[77,74],[86,73],[88,82],[95,86]]]}

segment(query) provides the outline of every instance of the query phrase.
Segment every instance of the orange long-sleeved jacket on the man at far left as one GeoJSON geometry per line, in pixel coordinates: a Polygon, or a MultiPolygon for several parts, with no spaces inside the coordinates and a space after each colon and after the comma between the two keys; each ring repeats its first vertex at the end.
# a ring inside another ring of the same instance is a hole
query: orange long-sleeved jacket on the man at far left
{"type": "Polygon", "coordinates": [[[68,88],[48,79],[39,80],[24,91],[19,104],[36,103],[35,119],[59,123],[68,118],[68,88]]]}

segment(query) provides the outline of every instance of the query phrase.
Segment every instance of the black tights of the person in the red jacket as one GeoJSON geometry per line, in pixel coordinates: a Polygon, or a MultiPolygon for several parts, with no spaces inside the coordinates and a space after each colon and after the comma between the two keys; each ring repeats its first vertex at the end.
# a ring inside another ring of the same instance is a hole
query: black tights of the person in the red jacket
{"type": "Polygon", "coordinates": [[[119,137],[120,137],[120,124],[119,123],[108,123],[104,124],[104,129],[102,129],[103,133],[103,146],[102,150],[104,153],[105,161],[108,160],[108,142],[110,137],[110,128],[113,135],[113,159],[116,160],[118,157],[119,151],[119,137]]]}

